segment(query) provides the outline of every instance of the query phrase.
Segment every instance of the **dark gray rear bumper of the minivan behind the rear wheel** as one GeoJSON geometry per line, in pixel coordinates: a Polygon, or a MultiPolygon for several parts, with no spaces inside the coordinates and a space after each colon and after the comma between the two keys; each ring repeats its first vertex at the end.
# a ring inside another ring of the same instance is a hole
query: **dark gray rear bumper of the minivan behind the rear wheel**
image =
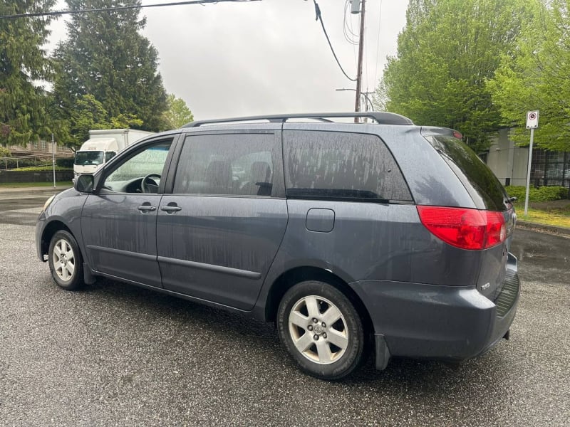
{"type": "MultiPolygon", "coordinates": [[[[385,342],[390,356],[460,361],[486,352],[509,331],[519,300],[517,258],[509,254],[503,288],[494,301],[474,287],[383,280],[351,287],[371,316],[377,343],[385,342]]],[[[377,357],[380,352],[385,359],[381,350],[377,344],[377,357]]]]}

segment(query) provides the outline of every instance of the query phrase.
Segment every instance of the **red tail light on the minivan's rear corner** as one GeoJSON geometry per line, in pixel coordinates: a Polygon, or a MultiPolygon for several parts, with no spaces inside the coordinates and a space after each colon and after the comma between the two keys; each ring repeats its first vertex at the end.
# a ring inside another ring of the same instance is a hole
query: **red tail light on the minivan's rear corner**
{"type": "Polygon", "coordinates": [[[442,241],[462,249],[486,249],[507,236],[502,213],[467,208],[416,206],[427,230],[442,241]]]}

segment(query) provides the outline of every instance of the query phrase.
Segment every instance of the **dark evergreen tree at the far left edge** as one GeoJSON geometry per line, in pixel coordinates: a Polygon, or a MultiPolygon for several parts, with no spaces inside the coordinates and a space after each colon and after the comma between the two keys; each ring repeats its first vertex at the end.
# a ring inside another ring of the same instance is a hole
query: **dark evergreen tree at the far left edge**
{"type": "MultiPolygon", "coordinates": [[[[55,0],[5,0],[1,15],[46,11],[55,0]]],[[[48,18],[0,19],[0,144],[25,145],[50,132],[46,96],[34,80],[50,80],[51,66],[41,46],[48,18]]]]}

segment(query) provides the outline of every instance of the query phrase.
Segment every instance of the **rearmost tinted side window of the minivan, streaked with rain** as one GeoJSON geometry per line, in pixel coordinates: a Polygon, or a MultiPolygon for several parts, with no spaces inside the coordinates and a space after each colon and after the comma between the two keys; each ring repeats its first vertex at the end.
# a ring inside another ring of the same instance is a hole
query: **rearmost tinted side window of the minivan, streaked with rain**
{"type": "Polygon", "coordinates": [[[286,131],[288,197],[411,201],[392,154],[375,135],[286,131]]]}

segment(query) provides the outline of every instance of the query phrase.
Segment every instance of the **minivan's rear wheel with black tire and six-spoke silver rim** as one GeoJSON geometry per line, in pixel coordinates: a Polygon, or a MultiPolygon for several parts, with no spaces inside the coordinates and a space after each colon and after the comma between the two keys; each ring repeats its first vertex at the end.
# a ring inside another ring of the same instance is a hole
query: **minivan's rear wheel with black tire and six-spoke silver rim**
{"type": "Polygon", "coordinates": [[[294,285],[279,303],[276,323],[287,352],[311,376],[342,379],[363,361],[361,317],[346,295],[328,283],[309,280],[294,285]]]}

